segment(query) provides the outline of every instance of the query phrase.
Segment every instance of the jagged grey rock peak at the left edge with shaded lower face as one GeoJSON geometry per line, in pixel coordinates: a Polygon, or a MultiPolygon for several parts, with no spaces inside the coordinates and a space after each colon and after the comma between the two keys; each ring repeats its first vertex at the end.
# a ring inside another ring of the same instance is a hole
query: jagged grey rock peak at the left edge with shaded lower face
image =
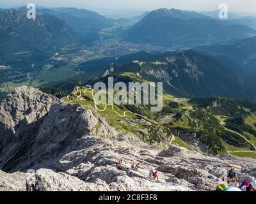
{"type": "Polygon", "coordinates": [[[0,168],[35,136],[58,99],[32,87],[13,89],[0,105],[0,168]]]}

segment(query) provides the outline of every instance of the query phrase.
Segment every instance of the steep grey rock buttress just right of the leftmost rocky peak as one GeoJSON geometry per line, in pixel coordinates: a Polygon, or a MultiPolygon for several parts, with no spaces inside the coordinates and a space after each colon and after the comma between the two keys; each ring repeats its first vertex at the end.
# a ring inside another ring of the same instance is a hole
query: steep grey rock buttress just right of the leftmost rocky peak
{"type": "Polygon", "coordinates": [[[52,168],[52,165],[74,150],[80,150],[90,135],[115,138],[117,133],[97,112],[80,105],[55,103],[40,125],[35,142],[22,156],[17,169],[52,168]]]}

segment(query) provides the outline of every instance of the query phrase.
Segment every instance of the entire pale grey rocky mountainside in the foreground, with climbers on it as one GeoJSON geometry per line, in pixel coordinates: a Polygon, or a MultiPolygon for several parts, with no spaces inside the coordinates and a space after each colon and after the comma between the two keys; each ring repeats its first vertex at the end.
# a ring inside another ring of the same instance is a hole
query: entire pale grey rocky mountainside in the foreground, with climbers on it
{"type": "Polygon", "coordinates": [[[214,191],[230,166],[240,182],[256,177],[255,159],[150,145],[95,108],[31,87],[13,89],[0,110],[0,191],[214,191]]]}

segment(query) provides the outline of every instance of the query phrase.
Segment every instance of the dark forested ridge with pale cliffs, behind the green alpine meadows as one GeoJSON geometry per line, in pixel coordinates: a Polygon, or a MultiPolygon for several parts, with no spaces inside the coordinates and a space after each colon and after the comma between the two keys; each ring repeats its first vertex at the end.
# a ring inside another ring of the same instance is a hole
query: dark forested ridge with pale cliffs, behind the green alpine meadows
{"type": "MultiPolygon", "coordinates": [[[[230,61],[230,64],[231,62],[233,61],[230,61]]],[[[237,70],[232,71],[227,65],[224,66],[214,58],[197,54],[193,50],[165,52],[122,66],[112,64],[102,77],[125,72],[138,75],[141,79],[145,77],[145,80],[150,80],[150,76],[154,77],[155,82],[164,82],[166,91],[175,94],[179,90],[179,97],[210,95],[250,97],[250,94],[246,93],[243,78],[239,77],[237,70]],[[232,91],[234,87],[237,95],[232,91]],[[241,96],[238,96],[239,94],[241,96]]]]}

